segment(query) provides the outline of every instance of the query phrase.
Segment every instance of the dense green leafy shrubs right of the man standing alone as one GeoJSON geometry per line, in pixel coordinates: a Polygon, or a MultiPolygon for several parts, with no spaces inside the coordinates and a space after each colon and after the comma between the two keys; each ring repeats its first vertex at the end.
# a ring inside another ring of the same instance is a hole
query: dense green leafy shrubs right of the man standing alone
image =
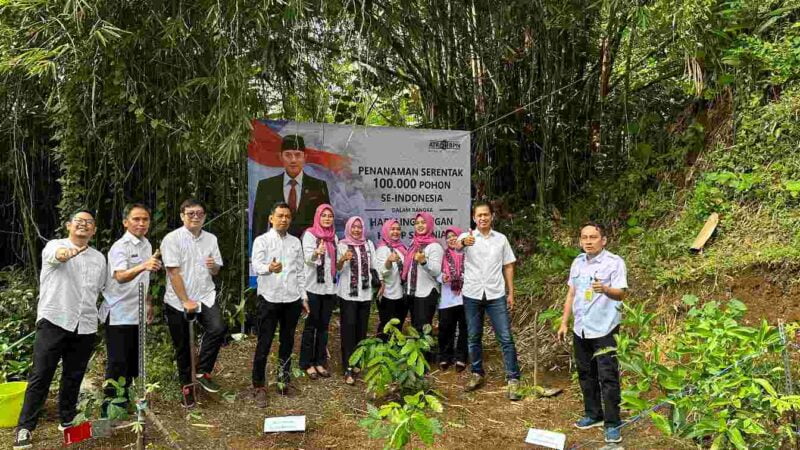
{"type": "Polygon", "coordinates": [[[688,309],[670,341],[653,339],[654,314],[626,306],[617,337],[625,371],[622,405],[649,411],[667,435],[711,442],[714,448],[778,448],[794,439],[787,411],[800,410],[800,396],[781,394],[782,345],[778,331],[762,322],[741,325],[745,305],[730,300],[700,304],[684,296],[688,309]],[[668,413],[651,410],[668,404],[668,413]]]}

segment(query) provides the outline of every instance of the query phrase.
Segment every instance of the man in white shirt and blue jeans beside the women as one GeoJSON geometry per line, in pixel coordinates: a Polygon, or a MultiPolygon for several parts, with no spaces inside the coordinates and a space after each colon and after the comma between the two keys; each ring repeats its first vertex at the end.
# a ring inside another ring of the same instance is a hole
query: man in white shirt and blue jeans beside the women
{"type": "Polygon", "coordinates": [[[463,233],[458,243],[464,250],[464,311],[467,315],[469,357],[472,376],[465,387],[474,391],[484,383],[483,316],[489,315],[497,342],[503,351],[508,380],[508,398],[519,400],[519,362],[508,312],[514,307],[514,262],[508,239],[492,229],[494,211],[489,203],[472,207],[476,230],[463,233]]]}

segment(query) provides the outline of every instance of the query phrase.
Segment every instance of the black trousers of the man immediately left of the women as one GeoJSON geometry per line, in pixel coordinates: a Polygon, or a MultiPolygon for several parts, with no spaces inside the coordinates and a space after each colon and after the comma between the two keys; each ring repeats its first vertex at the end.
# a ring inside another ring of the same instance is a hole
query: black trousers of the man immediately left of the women
{"type": "Polygon", "coordinates": [[[300,299],[291,303],[271,303],[258,296],[258,343],[253,356],[253,387],[264,387],[267,358],[275,330],[278,335],[278,380],[288,383],[291,379],[292,347],[294,347],[294,330],[300,319],[303,302],[300,299]]]}

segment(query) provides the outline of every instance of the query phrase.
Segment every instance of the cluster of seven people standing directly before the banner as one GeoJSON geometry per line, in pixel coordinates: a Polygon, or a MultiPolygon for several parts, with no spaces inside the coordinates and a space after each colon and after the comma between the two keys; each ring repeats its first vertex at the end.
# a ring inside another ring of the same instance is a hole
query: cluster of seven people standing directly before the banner
{"type": "Polygon", "coordinates": [[[342,375],[346,384],[354,384],[358,369],[350,365],[350,356],[367,337],[376,297],[379,336],[389,321],[397,319],[402,328],[409,316],[410,325],[422,331],[439,311],[439,367],[461,371],[471,361],[468,391],[484,381],[481,339],[483,316],[488,312],[503,350],[509,398],[520,398],[519,365],[508,315],[516,259],[505,236],[491,228],[491,205],[475,205],[476,230],[464,233],[457,227],[447,228],[446,249],[435,237],[436,222],[428,212],[416,215],[410,245],[401,239],[399,221],[386,220],[377,248],[367,239],[361,217],[348,218],[344,237],[339,239],[333,207],[321,204],[312,226],[298,238],[290,233],[292,212],[287,203],[273,205],[269,230],[253,241],[251,262],[259,298],[252,377],[257,405],[267,404],[265,368],[276,329],[280,341],[277,385],[281,392],[288,388],[294,332],[304,310],[308,316],[300,368],[312,380],[330,376],[328,328],[338,306],[342,375]]]}

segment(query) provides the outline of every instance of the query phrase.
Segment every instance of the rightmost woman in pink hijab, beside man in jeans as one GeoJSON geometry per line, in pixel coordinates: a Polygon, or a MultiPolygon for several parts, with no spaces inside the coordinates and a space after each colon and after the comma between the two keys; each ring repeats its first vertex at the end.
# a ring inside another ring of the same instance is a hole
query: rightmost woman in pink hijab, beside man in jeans
{"type": "Polygon", "coordinates": [[[464,253],[458,249],[461,229],[448,227],[444,231],[447,250],[442,258],[442,300],[439,302],[439,368],[447,370],[455,363],[456,370],[467,368],[467,317],[464,314],[464,253]],[[456,340],[458,330],[458,340],[456,340]]]}

